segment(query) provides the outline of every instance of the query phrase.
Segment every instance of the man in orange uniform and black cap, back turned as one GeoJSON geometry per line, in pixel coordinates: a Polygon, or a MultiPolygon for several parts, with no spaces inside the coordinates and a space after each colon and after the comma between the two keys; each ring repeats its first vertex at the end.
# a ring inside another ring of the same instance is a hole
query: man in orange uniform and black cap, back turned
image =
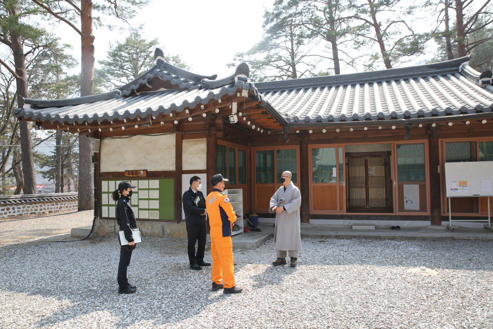
{"type": "Polygon", "coordinates": [[[227,181],[221,174],[212,176],[213,189],[206,198],[211,226],[212,291],[224,288],[224,293],[240,293],[243,289],[235,285],[233,242],[231,242],[231,228],[236,222],[236,214],[228,196],[223,193],[227,181]],[[223,278],[224,284],[221,284],[223,278]]]}

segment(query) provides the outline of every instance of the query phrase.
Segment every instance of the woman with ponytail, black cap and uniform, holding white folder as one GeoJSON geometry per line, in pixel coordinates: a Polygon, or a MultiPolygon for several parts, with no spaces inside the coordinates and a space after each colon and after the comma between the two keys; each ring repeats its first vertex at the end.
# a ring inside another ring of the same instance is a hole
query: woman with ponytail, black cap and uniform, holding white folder
{"type": "MultiPolygon", "coordinates": [[[[132,251],[135,249],[135,242],[132,236],[132,228],[137,227],[134,211],[130,205],[132,188],[136,188],[129,181],[123,181],[118,184],[118,189],[113,191],[111,198],[117,201],[116,204],[116,223],[120,226],[120,231],[125,233],[125,239],[128,246],[120,248],[120,262],[118,264],[118,293],[134,293],[137,291],[136,286],[129,285],[127,278],[127,267],[130,264],[132,251]]],[[[118,240],[120,237],[118,236],[118,240]]]]}

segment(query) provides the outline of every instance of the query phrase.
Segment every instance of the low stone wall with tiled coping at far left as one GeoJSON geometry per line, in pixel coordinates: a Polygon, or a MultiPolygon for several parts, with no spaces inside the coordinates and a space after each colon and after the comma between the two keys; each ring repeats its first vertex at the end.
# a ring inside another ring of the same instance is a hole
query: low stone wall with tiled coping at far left
{"type": "Polygon", "coordinates": [[[50,193],[0,197],[0,218],[15,215],[58,213],[77,209],[77,193],[50,193]]]}

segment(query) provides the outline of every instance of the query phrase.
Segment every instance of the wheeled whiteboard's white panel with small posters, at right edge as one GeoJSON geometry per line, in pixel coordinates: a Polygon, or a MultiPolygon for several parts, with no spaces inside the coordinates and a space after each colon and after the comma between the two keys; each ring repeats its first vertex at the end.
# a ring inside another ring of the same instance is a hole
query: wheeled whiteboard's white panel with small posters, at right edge
{"type": "Polygon", "coordinates": [[[493,161],[445,163],[447,197],[493,196],[493,161]]]}

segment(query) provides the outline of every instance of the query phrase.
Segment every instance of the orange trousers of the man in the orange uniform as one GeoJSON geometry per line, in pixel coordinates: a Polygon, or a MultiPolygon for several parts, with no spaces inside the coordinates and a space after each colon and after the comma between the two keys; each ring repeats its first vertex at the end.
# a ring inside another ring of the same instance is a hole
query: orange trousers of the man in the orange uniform
{"type": "Polygon", "coordinates": [[[233,260],[233,242],[231,236],[224,238],[211,237],[212,282],[220,285],[224,280],[224,288],[235,286],[235,263],[233,260]]]}

